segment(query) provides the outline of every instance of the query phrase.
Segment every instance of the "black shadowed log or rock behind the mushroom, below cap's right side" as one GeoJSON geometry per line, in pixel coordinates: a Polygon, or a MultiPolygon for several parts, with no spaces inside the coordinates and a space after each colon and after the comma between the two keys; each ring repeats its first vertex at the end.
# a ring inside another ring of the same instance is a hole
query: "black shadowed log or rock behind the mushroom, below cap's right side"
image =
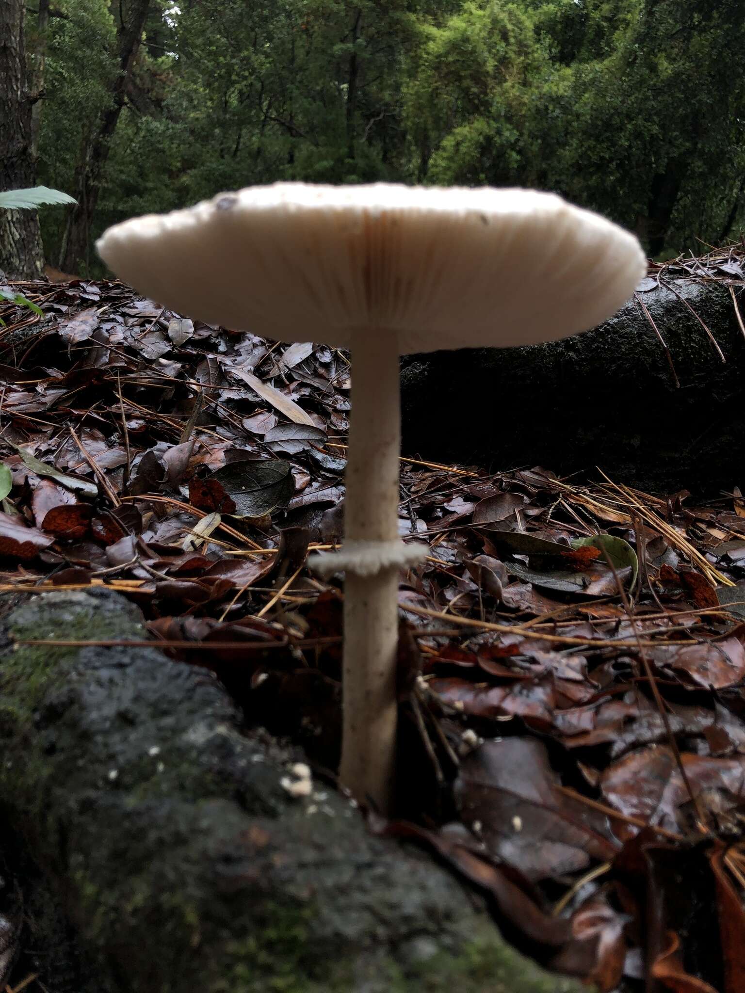
{"type": "MultiPolygon", "coordinates": [[[[405,359],[404,454],[495,472],[543,465],[597,478],[599,466],[653,493],[745,486],[745,340],[732,299],[715,283],[678,279],[671,287],[639,297],[670,349],[679,386],[632,300],[563,342],[405,359]]],[[[525,287],[526,298],[539,292],[525,287]]],[[[464,320],[467,312],[464,305],[464,320]]]]}

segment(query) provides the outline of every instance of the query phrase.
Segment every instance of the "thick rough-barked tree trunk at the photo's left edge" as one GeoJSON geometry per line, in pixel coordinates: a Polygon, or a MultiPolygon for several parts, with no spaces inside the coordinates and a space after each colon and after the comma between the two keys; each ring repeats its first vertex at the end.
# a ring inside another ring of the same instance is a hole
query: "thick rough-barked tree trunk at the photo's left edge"
{"type": "MultiPolygon", "coordinates": [[[[0,190],[36,185],[32,139],[34,101],[28,91],[23,0],[0,2],[0,190]]],[[[41,275],[44,249],[36,211],[0,210],[0,269],[41,275]]]]}

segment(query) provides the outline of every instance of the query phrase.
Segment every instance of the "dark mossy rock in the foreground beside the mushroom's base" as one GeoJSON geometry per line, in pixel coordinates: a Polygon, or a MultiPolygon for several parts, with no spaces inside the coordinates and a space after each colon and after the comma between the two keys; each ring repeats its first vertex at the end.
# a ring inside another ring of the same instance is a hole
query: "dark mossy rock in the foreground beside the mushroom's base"
{"type": "MultiPolygon", "coordinates": [[[[204,669],[137,646],[107,591],[5,619],[0,822],[113,993],[569,993],[424,853],[371,836],[204,669]],[[14,650],[15,649],[15,650],[14,650]]],[[[87,987],[86,987],[87,988],[87,987]]],[[[72,991],[71,991],[72,993],[72,991]]]]}

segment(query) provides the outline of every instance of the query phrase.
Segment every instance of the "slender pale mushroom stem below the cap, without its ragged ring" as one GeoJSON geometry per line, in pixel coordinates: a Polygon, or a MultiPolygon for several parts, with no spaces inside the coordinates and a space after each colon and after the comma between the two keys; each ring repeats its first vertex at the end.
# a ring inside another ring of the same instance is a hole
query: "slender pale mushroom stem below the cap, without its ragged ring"
{"type": "Polygon", "coordinates": [[[370,798],[386,813],[395,761],[400,563],[381,561],[371,568],[371,543],[394,547],[398,541],[401,426],[395,335],[360,335],[352,359],[345,536],[347,547],[359,549],[361,559],[368,554],[364,565],[346,564],[339,775],[358,799],[370,798]]]}

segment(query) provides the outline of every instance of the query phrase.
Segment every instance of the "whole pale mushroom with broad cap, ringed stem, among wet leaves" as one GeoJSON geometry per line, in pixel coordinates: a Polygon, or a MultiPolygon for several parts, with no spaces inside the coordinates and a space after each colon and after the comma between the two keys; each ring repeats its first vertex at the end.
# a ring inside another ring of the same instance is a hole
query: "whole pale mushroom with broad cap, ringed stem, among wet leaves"
{"type": "Polygon", "coordinates": [[[424,550],[398,536],[398,357],[594,327],[645,275],[639,242],[529,190],[279,183],[124,221],[97,248],[180,313],[351,350],[345,544],[315,567],[346,572],[340,780],[387,811],[398,572],[424,550]]]}

